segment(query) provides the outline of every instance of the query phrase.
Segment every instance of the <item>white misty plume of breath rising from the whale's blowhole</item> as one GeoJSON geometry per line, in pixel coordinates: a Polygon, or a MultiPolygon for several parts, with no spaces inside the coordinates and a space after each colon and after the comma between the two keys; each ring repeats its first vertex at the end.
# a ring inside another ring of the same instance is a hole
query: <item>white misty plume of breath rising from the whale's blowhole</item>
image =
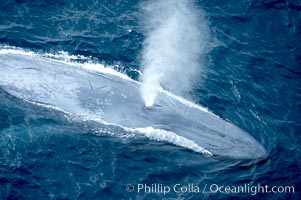
{"type": "Polygon", "coordinates": [[[189,0],[152,0],[141,4],[145,40],[140,92],[146,106],[159,88],[188,92],[202,73],[209,28],[203,13],[189,0]]]}

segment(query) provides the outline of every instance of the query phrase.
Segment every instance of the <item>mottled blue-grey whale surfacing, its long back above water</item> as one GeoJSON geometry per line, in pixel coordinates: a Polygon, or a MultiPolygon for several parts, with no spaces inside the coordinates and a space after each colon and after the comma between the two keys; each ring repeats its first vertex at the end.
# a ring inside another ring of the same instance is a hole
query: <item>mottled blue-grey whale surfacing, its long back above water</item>
{"type": "Polygon", "coordinates": [[[75,115],[98,116],[127,128],[173,132],[213,155],[266,157],[262,145],[242,129],[166,92],[159,93],[155,106],[145,107],[139,83],[116,74],[34,54],[0,51],[0,87],[19,98],[75,115]]]}

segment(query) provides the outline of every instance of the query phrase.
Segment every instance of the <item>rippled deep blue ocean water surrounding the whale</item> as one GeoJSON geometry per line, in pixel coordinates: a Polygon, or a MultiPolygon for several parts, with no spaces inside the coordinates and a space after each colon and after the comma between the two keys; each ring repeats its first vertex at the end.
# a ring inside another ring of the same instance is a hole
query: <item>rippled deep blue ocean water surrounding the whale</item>
{"type": "MultiPolygon", "coordinates": [[[[141,3],[1,1],[1,49],[82,55],[75,61],[100,63],[138,80],[145,40],[141,3]]],[[[208,157],[125,137],[120,128],[70,120],[0,89],[0,199],[300,199],[301,2],[212,0],[194,6],[203,10],[211,38],[201,81],[187,98],[248,132],[267,158],[208,157]],[[134,191],[127,191],[129,184],[134,191]],[[200,192],[138,192],[139,184],[194,185],[200,192]],[[223,193],[215,184],[293,186],[294,193],[223,193]]]]}

